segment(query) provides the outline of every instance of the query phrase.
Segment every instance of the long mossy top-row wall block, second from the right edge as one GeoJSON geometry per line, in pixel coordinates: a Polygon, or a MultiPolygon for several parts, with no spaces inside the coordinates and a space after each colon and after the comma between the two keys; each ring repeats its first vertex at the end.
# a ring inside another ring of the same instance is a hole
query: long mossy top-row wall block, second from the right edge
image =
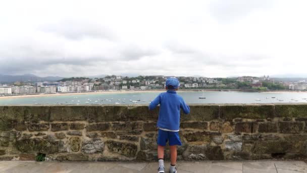
{"type": "Polygon", "coordinates": [[[274,117],[274,105],[225,105],[221,106],[221,118],[262,119],[274,117]]]}

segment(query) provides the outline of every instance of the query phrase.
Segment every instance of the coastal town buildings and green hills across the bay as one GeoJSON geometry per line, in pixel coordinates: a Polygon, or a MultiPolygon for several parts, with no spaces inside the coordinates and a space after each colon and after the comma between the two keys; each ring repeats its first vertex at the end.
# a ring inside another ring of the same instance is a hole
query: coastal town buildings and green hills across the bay
{"type": "MultiPolygon", "coordinates": [[[[168,76],[116,76],[103,78],[71,77],[57,81],[15,81],[0,83],[0,96],[34,95],[56,93],[83,93],[97,91],[143,91],[164,89],[168,76]]],[[[241,76],[232,78],[207,78],[178,76],[180,89],[185,90],[239,90],[247,92],[262,91],[304,91],[307,81],[282,81],[269,76],[241,76]]]]}

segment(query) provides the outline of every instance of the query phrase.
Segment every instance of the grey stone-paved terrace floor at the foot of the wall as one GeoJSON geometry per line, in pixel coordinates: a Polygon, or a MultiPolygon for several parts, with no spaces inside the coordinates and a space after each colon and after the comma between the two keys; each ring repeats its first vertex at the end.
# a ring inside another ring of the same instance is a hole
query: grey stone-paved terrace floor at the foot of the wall
{"type": "MultiPolygon", "coordinates": [[[[166,162],[166,170],[169,168],[166,162]]],[[[34,162],[0,161],[0,172],[157,172],[157,162],[34,162]]],[[[303,161],[180,161],[178,173],[299,173],[307,172],[303,161]]],[[[166,171],[167,172],[167,171],[166,171]]]]}

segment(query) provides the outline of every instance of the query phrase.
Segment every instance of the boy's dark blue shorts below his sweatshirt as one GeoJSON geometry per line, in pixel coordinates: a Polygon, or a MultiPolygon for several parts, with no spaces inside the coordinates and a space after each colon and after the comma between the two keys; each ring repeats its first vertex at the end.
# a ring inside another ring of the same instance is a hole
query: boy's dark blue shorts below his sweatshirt
{"type": "Polygon", "coordinates": [[[159,129],[157,144],[160,146],[166,146],[167,141],[169,141],[170,146],[182,145],[179,138],[179,132],[163,131],[162,129],[159,129]]]}

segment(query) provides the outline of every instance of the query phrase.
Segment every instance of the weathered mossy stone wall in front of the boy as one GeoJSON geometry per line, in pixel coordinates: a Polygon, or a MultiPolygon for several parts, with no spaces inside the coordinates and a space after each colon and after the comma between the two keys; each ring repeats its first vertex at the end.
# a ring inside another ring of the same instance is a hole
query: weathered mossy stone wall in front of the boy
{"type": "MultiPolygon", "coordinates": [[[[307,155],[306,104],[190,108],[181,115],[179,160],[307,155]]],[[[0,160],[34,160],[38,153],[60,161],[156,160],[158,112],[147,106],[0,106],[0,160]]]]}

